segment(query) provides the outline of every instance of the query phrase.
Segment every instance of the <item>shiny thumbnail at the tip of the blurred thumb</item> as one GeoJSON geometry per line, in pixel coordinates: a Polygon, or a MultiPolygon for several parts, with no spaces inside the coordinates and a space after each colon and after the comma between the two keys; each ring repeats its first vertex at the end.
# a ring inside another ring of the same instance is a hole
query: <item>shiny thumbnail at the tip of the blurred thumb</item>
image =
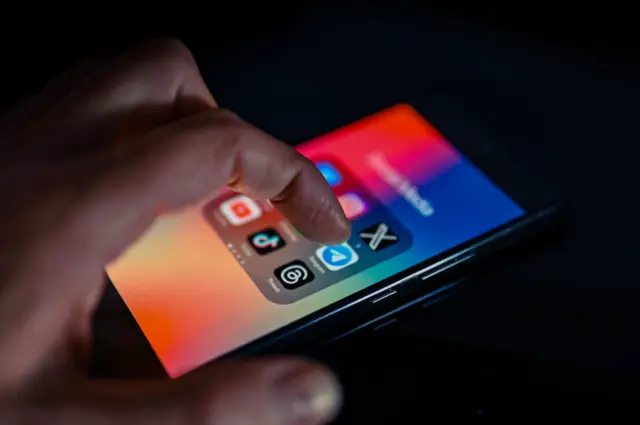
{"type": "Polygon", "coordinates": [[[283,416],[288,423],[323,423],[335,417],[342,403],[337,380],[329,372],[302,367],[277,381],[283,416]]]}

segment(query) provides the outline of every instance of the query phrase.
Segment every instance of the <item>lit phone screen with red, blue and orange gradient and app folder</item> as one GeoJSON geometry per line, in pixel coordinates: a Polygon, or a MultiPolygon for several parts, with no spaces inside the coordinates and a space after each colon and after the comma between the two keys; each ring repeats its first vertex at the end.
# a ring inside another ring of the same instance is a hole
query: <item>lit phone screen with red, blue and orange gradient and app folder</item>
{"type": "Polygon", "coordinates": [[[408,105],[298,146],[352,221],[304,239],[230,190],[160,217],[107,268],[167,373],[187,373],[525,212],[408,105]]]}

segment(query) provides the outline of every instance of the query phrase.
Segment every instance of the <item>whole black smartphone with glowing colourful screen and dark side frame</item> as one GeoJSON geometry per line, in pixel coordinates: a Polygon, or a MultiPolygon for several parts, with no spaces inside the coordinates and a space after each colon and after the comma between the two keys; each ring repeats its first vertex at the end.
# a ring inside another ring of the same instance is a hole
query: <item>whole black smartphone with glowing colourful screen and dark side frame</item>
{"type": "Polygon", "coordinates": [[[107,274],[167,374],[348,333],[555,222],[550,186],[495,144],[454,147],[466,126],[445,127],[400,104],[297,147],[352,221],[341,245],[229,189],[160,217],[107,274]]]}

